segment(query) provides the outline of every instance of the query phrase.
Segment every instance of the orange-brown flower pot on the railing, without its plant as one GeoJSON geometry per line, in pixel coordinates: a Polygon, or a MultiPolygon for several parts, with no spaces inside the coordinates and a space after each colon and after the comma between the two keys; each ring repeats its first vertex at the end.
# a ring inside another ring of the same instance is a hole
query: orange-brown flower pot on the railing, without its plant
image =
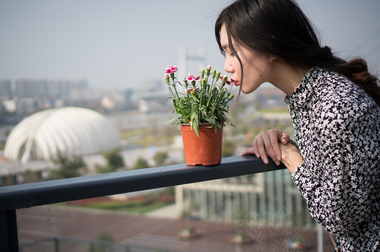
{"type": "Polygon", "coordinates": [[[182,124],[182,140],[184,142],[185,159],[188,165],[213,165],[222,161],[223,130],[217,129],[215,134],[211,124],[199,124],[199,137],[190,124],[182,124]]]}

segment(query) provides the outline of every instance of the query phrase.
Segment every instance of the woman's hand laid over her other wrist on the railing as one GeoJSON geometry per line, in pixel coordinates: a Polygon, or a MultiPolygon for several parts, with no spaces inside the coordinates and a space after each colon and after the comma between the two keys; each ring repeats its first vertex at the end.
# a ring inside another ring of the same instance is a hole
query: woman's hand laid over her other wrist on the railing
{"type": "Polygon", "coordinates": [[[282,154],[279,147],[279,142],[287,144],[290,141],[288,134],[280,130],[264,130],[253,140],[252,148],[243,150],[240,156],[246,154],[255,154],[256,157],[263,160],[265,164],[268,164],[268,155],[275,164],[280,165],[282,154]]]}

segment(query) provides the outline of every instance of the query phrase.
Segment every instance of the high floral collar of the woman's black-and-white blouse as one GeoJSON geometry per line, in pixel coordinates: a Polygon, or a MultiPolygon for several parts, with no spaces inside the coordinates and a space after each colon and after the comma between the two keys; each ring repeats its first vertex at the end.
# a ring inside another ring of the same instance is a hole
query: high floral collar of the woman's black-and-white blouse
{"type": "Polygon", "coordinates": [[[323,77],[328,71],[321,67],[312,67],[304,76],[298,87],[285,97],[290,109],[300,110],[312,99],[318,83],[318,80],[323,77]]]}

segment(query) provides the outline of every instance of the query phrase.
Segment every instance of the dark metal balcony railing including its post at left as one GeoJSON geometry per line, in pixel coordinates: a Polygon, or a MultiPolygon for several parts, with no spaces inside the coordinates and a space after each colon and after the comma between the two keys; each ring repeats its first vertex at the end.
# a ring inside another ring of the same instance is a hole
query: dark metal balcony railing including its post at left
{"type": "Polygon", "coordinates": [[[184,185],[285,169],[255,155],[223,158],[212,166],[174,164],[139,170],[0,187],[0,244],[18,251],[16,209],[184,185]]]}

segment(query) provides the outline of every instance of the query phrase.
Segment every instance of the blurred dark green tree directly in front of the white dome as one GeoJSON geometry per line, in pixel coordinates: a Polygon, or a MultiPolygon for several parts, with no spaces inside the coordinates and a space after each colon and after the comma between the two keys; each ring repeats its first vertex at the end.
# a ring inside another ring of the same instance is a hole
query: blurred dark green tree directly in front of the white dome
{"type": "Polygon", "coordinates": [[[67,158],[60,154],[55,163],[59,164],[60,167],[52,172],[52,179],[80,177],[81,173],[79,170],[86,167],[81,157],[67,158]]]}

